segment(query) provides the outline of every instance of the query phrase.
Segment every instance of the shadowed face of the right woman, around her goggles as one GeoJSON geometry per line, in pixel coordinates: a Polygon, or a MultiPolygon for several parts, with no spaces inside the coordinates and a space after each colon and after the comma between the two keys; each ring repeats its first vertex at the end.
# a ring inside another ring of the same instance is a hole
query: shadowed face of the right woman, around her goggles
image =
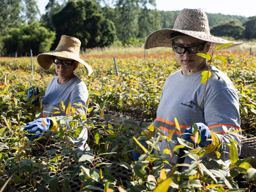
{"type": "MultiPolygon", "coordinates": [[[[202,44],[204,41],[196,40],[189,37],[180,37],[173,40],[173,43],[180,46],[191,46],[202,44]]],[[[210,42],[206,44],[204,49],[201,53],[207,53],[210,49],[210,42]]],[[[183,75],[190,75],[197,73],[198,71],[202,70],[206,61],[203,57],[197,55],[191,55],[188,51],[186,51],[183,55],[179,55],[175,53],[175,57],[177,62],[181,65],[183,75]],[[193,69],[193,70],[192,70],[193,69]],[[190,73],[189,73],[190,70],[190,73]]]]}

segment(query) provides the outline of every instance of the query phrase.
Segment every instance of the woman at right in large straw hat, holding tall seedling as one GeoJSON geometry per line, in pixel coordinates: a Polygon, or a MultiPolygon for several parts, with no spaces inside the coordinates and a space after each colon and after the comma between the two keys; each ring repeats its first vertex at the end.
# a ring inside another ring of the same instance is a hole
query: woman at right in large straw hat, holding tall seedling
{"type": "MultiPolygon", "coordinates": [[[[177,142],[177,137],[185,132],[190,134],[184,134],[182,138],[193,143],[190,138],[191,124],[200,108],[206,88],[205,84],[201,84],[201,73],[207,71],[209,67],[206,59],[197,56],[196,53],[208,53],[215,50],[216,46],[225,43],[231,42],[210,35],[207,15],[202,9],[183,9],[178,14],[173,29],[156,30],[147,37],[144,44],[145,49],[172,47],[176,60],[181,66],[181,70],[167,78],[157,108],[157,117],[153,122],[155,125],[162,124],[160,129],[166,136],[171,130],[176,129],[171,138],[173,141],[177,142]],[[175,117],[180,125],[180,131],[176,128],[175,117]]],[[[232,45],[222,49],[229,49],[242,44],[232,43],[232,45]]],[[[199,146],[206,150],[202,159],[217,159],[214,151],[218,150],[221,153],[221,159],[228,163],[229,153],[224,153],[222,150],[229,152],[229,148],[223,143],[230,143],[229,139],[235,140],[239,154],[241,140],[236,135],[221,135],[221,133],[225,133],[223,126],[232,131],[240,130],[238,96],[227,75],[214,66],[210,66],[210,69],[217,71],[221,78],[218,80],[215,73],[209,78],[202,107],[194,122],[201,131],[199,146]],[[218,145],[220,145],[219,149],[217,148],[218,145]]],[[[237,134],[241,135],[241,132],[237,132],[237,134]]],[[[144,141],[141,140],[141,143],[144,144],[144,141]]],[[[170,168],[172,162],[176,163],[177,157],[171,158],[170,154],[164,154],[163,150],[171,149],[173,151],[176,144],[170,143],[168,146],[163,141],[158,144],[160,151],[154,150],[154,153],[160,153],[167,157],[170,164],[167,167],[170,168]]],[[[134,155],[135,158],[139,157],[137,153],[134,155]]],[[[185,163],[190,164],[191,161],[191,158],[186,157],[185,163]]]]}

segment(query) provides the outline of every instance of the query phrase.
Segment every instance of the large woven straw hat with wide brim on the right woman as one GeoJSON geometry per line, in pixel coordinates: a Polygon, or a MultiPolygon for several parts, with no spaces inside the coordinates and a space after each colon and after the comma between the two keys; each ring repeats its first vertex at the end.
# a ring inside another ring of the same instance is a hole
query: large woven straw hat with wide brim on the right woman
{"type": "Polygon", "coordinates": [[[182,11],[178,14],[173,29],[159,29],[149,34],[145,41],[144,49],[154,47],[172,47],[171,39],[175,38],[177,32],[201,41],[211,42],[210,51],[215,50],[217,46],[225,43],[233,44],[223,47],[222,49],[229,49],[231,47],[243,44],[211,35],[206,13],[204,13],[202,9],[185,8],[182,9],[182,11]]]}

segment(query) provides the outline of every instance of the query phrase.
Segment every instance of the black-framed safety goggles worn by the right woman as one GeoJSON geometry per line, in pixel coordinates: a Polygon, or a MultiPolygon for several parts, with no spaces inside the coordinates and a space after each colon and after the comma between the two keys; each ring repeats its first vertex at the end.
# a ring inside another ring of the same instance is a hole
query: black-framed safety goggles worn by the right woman
{"type": "Polygon", "coordinates": [[[207,41],[202,44],[191,45],[187,47],[172,43],[172,46],[175,53],[179,55],[183,55],[184,53],[186,53],[186,51],[188,51],[188,53],[191,55],[195,55],[197,53],[200,53],[204,49],[204,47],[206,46],[206,43],[207,41]]]}

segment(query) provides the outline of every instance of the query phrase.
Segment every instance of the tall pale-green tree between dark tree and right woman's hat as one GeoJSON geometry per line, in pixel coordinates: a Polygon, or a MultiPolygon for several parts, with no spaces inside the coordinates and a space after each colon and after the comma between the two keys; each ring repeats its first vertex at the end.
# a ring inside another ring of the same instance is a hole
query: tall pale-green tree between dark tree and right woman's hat
{"type": "Polygon", "coordinates": [[[98,1],[105,4],[101,13],[114,22],[117,38],[123,44],[136,38],[146,38],[160,27],[158,11],[147,8],[148,5],[155,7],[155,0],[116,0],[115,8],[109,7],[105,0],[98,1]]]}

